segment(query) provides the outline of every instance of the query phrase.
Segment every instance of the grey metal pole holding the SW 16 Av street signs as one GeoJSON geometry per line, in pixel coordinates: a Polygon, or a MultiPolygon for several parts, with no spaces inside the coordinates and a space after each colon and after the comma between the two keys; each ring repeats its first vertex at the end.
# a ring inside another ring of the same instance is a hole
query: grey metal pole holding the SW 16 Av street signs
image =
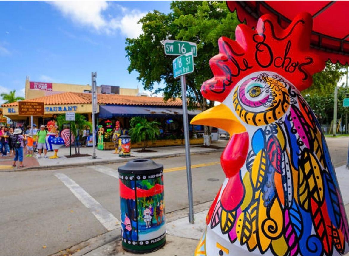
{"type": "Polygon", "coordinates": [[[182,108],[183,108],[183,126],[185,140],[185,162],[187,166],[187,183],[188,183],[188,200],[189,200],[189,222],[194,223],[194,206],[193,206],[193,186],[192,186],[192,169],[190,163],[190,143],[188,131],[188,110],[187,110],[187,91],[185,84],[185,75],[180,76],[180,85],[182,88],[182,108]]]}

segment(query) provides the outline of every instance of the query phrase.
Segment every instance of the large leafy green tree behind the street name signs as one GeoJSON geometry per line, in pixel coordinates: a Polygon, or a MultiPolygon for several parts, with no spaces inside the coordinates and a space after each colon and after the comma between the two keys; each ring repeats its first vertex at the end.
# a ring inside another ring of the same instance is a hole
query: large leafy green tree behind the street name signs
{"type": "Polygon", "coordinates": [[[199,104],[201,110],[212,107],[200,93],[201,84],[213,75],[209,60],[218,53],[218,38],[235,38],[235,27],[239,21],[225,2],[217,1],[173,1],[171,12],[164,14],[154,10],[141,18],[143,33],[135,39],[126,39],[128,71],[137,71],[138,80],[144,89],[154,90],[154,84],[164,82],[158,88],[165,100],[181,96],[180,80],[173,78],[173,56],[164,54],[163,40],[176,39],[195,42],[198,57],[194,58],[195,71],[186,76],[189,106],[199,104]]]}

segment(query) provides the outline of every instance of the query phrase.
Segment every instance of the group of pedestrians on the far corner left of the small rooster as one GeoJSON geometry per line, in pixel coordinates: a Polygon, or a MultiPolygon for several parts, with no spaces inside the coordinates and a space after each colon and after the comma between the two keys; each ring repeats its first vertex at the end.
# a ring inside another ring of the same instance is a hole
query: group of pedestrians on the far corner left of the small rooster
{"type": "Polygon", "coordinates": [[[33,129],[31,126],[27,126],[24,130],[22,127],[0,127],[0,153],[1,157],[14,156],[13,167],[16,166],[16,162],[19,161],[19,168],[23,168],[23,157],[32,157],[34,152],[37,152],[37,157],[40,158],[42,151],[44,151],[44,157],[47,158],[47,147],[45,138],[47,130],[44,125],[40,126],[40,129],[36,128],[34,124],[33,129]]]}

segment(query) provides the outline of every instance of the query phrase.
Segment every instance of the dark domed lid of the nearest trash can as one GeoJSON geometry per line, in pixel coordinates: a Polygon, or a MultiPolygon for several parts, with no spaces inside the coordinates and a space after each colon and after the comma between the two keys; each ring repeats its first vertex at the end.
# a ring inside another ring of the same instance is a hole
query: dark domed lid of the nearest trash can
{"type": "Polygon", "coordinates": [[[118,168],[118,172],[130,174],[151,174],[158,173],[164,170],[162,164],[157,164],[150,159],[133,159],[118,168]]]}

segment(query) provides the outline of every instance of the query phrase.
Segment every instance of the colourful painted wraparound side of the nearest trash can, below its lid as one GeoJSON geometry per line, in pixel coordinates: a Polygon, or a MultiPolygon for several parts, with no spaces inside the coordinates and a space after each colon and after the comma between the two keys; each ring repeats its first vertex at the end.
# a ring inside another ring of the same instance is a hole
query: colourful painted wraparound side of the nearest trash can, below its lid
{"type": "Polygon", "coordinates": [[[121,234],[124,242],[148,246],[164,238],[163,184],[162,172],[137,176],[119,174],[121,234]]]}

